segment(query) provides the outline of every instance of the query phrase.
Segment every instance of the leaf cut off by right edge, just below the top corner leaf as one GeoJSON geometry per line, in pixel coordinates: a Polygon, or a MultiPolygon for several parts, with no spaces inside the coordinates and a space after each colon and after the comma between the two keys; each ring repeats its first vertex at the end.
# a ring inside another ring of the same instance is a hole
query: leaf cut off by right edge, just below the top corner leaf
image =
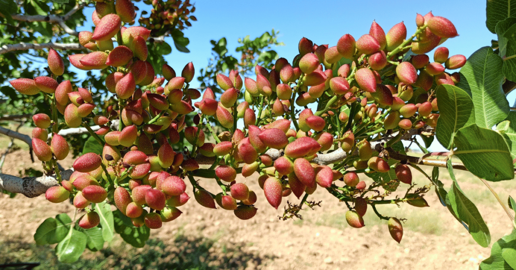
{"type": "Polygon", "coordinates": [[[516,81],[516,18],[498,22],[496,35],[499,55],[504,59],[502,71],[510,81],[516,81]]]}

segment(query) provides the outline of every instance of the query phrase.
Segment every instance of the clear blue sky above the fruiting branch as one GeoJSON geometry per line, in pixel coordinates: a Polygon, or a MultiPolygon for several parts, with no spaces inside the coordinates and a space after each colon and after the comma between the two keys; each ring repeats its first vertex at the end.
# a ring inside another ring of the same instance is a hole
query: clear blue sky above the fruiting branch
{"type": "MultiPolygon", "coordinates": [[[[274,49],[280,57],[292,61],[298,54],[297,45],[302,37],[311,39],[316,44],[333,46],[344,34],[351,34],[355,39],[367,34],[373,20],[376,20],[385,33],[395,24],[404,21],[408,35],[415,29],[416,13],[429,11],[442,16],[455,24],[459,36],[448,39],[442,46],[449,49],[450,56],[463,54],[469,57],[482,46],[490,45],[496,35],[486,28],[486,2],[471,1],[191,1],[195,3],[194,15],[197,22],[185,30],[190,39],[185,54],[175,50],[172,39],[167,42],[173,51],[166,56],[169,65],[176,72],[181,72],[187,62],[192,61],[198,71],[204,68],[211,55],[210,40],[226,37],[228,49],[234,53],[238,38],[250,35],[253,39],[272,28],[279,30],[278,41],[284,46],[274,49]]],[[[92,10],[86,11],[90,14],[92,10]]],[[[91,24],[90,24],[91,25],[91,24]]],[[[90,28],[91,26],[82,28],[90,28]]],[[[79,28],[81,29],[81,28],[79,28]]],[[[429,53],[430,56],[433,53],[429,53]]],[[[196,79],[191,86],[199,86],[196,79]]],[[[510,104],[514,98],[509,97],[510,104]]],[[[436,140],[437,141],[437,140],[436,140]]],[[[441,151],[437,142],[431,147],[441,151]]]]}

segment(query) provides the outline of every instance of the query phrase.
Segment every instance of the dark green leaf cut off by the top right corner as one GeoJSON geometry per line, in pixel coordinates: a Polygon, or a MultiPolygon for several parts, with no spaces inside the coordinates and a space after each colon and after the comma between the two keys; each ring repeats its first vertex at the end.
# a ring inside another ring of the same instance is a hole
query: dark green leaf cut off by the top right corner
{"type": "Polygon", "coordinates": [[[496,24],[509,17],[516,17],[515,0],[488,0],[486,7],[486,26],[496,34],[496,24]]]}

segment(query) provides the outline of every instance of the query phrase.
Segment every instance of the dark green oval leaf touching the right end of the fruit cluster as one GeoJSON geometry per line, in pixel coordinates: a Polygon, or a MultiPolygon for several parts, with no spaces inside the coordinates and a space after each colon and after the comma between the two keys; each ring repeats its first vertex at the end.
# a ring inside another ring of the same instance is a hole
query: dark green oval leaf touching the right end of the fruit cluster
{"type": "Polygon", "coordinates": [[[440,85],[436,95],[440,105],[436,136],[441,145],[449,150],[453,147],[457,131],[475,122],[473,101],[466,91],[453,85],[440,85]]]}

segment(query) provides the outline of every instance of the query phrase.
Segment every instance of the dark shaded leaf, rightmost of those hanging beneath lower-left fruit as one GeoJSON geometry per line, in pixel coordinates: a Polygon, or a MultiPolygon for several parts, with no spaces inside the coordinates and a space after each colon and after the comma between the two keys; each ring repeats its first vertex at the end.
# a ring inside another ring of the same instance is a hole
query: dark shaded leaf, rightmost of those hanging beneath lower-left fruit
{"type": "Polygon", "coordinates": [[[126,217],[119,210],[114,211],[115,231],[120,234],[122,239],[134,247],[143,247],[145,242],[149,239],[150,229],[147,226],[139,228],[134,226],[127,226],[131,223],[131,219],[126,217]]]}

